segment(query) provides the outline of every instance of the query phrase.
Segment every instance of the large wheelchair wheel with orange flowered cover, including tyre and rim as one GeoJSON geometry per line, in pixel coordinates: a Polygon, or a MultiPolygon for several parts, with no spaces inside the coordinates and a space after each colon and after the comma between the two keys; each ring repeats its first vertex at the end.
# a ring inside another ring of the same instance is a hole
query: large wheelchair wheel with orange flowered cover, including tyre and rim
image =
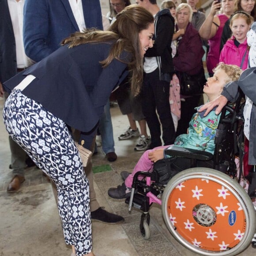
{"type": "Polygon", "coordinates": [[[237,255],[252,241],[256,215],[237,181],[209,168],[175,175],[162,197],[166,226],[185,247],[202,255],[237,255]]]}

